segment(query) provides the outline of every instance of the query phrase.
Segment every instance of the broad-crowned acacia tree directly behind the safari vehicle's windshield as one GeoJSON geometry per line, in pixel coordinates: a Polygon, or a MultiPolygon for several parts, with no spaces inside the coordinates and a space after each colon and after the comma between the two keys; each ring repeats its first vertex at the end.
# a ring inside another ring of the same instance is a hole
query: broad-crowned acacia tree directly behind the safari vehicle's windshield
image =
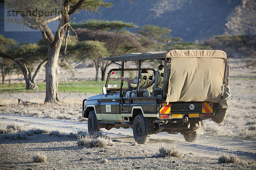
{"type": "MultiPolygon", "coordinates": [[[[105,42],[105,47],[111,56],[123,55],[134,51],[144,51],[149,41],[142,40],[140,34],[131,34],[124,28],[138,28],[134,23],[122,21],[88,20],[81,23],[71,23],[76,29],[80,41],[93,40],[105,42]],[[86,29],[82,29],[86,28],[86,29]]],[[[104,56],[102,56],[104,57],[104,56]]],[[[102,60],[100,59],[102,62],[102,60]]],[[[111,62],[105,61],[102,64],[102,80],[111,62]]]]}

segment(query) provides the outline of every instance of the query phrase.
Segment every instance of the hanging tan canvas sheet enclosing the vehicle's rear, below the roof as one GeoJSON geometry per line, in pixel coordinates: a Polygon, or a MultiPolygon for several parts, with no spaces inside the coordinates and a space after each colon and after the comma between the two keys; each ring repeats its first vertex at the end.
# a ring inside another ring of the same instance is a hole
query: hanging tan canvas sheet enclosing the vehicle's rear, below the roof
{"type": "Polygon", "coordinates": [[[225,60],[210,57],[173,57],[166,102],[219,102],[225,60]]]}

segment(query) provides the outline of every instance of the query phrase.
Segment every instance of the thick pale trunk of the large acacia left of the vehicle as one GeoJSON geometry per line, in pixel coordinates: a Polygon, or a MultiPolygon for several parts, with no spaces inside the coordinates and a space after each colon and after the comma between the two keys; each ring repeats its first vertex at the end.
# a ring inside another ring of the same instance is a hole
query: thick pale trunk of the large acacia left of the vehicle
{"type": "MultiPolygon", "coordinates": [[[[56,33],[57,34],[57,33],[56,33]]],[[[59,68],[58,68],[58,57],[61,49],[61,42],[56,45],[48,46],[48,60],[45,64],[45,74],[46,74],[46,96],[44,103],[47,102],[58,102],[58,78],[59,78],[59,68]]]]}

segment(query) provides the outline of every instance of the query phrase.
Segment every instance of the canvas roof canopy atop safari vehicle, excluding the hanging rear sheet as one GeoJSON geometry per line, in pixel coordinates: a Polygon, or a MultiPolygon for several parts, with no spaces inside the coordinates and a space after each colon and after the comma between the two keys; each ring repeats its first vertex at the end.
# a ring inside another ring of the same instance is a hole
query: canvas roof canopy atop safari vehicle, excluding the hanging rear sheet
{"type": "Polygon", "coordinates": [[[227,58],[227,54],[221,50],[170,50],[165,52],[153,51],[144,53],[130,53],[117,57],[105,57],[103,60],[133,61],[139,59],[165,59],[174,57],[210,57],[210,58],[227,58]]]}

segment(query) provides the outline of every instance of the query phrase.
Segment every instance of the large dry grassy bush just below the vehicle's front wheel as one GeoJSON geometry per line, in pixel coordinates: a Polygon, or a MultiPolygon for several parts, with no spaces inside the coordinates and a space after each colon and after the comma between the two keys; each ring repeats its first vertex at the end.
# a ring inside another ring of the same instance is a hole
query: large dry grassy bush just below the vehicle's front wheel
{"type": "Polygon", "coordinates": [[[90,136],[78,136],[77,144],[79,146],[89,146],[89,147],[106,147],[113,146],[113,141],[102,133],[98,133],[96,135],[90,136]]]}

